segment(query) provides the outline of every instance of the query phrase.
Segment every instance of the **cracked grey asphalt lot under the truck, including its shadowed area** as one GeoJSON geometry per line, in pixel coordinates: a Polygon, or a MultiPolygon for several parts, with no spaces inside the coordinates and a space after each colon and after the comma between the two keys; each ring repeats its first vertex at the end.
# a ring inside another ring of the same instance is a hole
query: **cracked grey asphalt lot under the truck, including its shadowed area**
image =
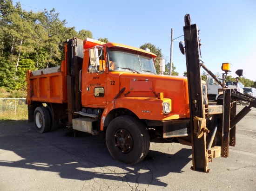
{"type": "MultiPolygon", "coordinates": [[[[238,110],[243,106],[238,105],[238,110]]],[[[163,139],[148,156],[125,165],[108,153],[104,139],[63,125],[39,134],[33,123],[0,124],[0,191],[255,191],[256,108],[237,124],[228,158],[210,172],[190,170],[191,147],[163,139]]]]}

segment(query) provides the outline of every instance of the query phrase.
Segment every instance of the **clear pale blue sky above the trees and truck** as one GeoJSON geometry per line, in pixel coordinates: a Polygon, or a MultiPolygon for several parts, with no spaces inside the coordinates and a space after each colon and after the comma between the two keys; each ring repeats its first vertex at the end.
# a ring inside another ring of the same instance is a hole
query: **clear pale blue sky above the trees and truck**
{"type": "MultiPolygon", "coordinates": [[[[222,76],[222,63],[232,64],[228,75],[256,81],[256,0],[13,0],[33,12],[55,9],[68,27],[79,32],[89,30],[94,39],[139,48],[151,43],[170,60],[173,29],[172,62],[183,76],[185,55],[179,50],[183,38],[185,14],[200,29],[201,60],[214,74],[222,76]],[[182,37],[180,37],[182,36],[182,37]],[[179,38],[178,38],[179,37],[179,38]]],[[[202,69],[203,71],[203,69],[202,69]]]]}

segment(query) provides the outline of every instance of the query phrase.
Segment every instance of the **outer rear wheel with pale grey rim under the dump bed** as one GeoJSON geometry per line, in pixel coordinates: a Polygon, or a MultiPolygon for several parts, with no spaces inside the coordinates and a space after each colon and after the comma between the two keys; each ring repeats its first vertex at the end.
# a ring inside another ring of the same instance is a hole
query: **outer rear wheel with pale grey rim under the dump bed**
{"type": "Polygon", "coordinates": [[[37,107],[34,111],[34,124],[38,133],[46,133],[50,130],[52,118],[47,107],[37,107]]]}

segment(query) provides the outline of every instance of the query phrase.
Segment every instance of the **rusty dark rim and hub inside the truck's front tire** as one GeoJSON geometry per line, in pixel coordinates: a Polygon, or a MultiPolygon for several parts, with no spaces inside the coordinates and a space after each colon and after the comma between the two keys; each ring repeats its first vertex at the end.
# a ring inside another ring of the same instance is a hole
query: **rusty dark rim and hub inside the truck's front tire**
{"type": "Polygon", "coordinates": [[[133,139],[131,134],[125,129],[119,129],[115,132],[115,147],[121,153],[129,153],[133,148],[133,139]]]}

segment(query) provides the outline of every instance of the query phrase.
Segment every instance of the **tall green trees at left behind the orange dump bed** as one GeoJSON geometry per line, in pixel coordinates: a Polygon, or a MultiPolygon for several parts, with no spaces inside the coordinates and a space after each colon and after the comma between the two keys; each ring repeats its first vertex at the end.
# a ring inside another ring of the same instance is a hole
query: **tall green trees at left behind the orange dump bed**
{"type": "Polygon", "coordinates": [[[26,70],[61,64],[67,39],[93,38],[92,32],[67,27],[54,9],[25,11],[20,2],[0,1],[0,87],[26,87],[26,70]]]}

